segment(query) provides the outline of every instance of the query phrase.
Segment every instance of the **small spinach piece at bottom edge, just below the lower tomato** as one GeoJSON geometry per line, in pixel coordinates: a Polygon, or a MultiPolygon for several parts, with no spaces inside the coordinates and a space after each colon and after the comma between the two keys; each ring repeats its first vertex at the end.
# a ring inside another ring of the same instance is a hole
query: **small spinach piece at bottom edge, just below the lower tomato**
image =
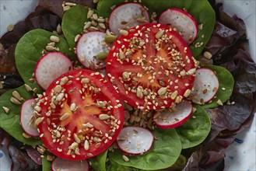
{"type": "Polygon", "coordinates": [[[94,170],[106,171],[106,160],[107,160],[107,150],[100,155],[96,155],[93,158],[89,159],[89,162],[92,163],[91,167],[94,170]]]}

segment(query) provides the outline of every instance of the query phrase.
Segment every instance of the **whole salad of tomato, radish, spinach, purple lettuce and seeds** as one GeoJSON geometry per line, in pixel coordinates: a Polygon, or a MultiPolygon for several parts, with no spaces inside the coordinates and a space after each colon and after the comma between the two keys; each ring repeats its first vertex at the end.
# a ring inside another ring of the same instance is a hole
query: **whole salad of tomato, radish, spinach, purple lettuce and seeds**
{"type": "Polygon", "coordinates": [[[254,117],[244,23],[208,1],[157,3],[40,1],[1,38],[13,169],[223,169],[254,117]]]}

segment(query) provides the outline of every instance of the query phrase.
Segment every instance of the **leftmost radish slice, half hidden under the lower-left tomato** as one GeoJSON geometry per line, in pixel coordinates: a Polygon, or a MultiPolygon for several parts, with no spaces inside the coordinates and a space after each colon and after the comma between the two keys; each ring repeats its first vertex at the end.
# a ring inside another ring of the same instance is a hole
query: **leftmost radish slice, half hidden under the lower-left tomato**
{"type": "Polygon", "coordinates": [[[32,137],[38,137],[39,133],[37,131],[36,125],[30,124],[31,117],[33,117],[33,103],[36,103],[35,99],[27,99],[23,106],[20,109],[20,115],[19,115],[19,121],[21,124],[21,127],[23,127],[23,130],[26,132],[26,134],[29,134],[32,137]]]}

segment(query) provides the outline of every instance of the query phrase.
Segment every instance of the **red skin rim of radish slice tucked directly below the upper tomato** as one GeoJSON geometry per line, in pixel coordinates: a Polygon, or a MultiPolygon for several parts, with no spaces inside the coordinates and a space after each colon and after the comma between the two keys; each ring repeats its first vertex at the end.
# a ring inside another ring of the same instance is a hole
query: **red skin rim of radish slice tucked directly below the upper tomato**
{"type": "MultiPolygon", "coordinates": [[[[170,124],[160,124],[158,121],[157,121],[157,118],[155,120],[155,123],[156,123],[156,126],[157,127],[160,127],[160,128],[163,128],[163,129],[170,129],[170,128],[174,128],[174,127],[179,127],[181,126],[182,124],[184,124],[190,117],[191,117],[191,114],[192,114],[192,111],[193,111],[193,106],[191,104],[191,102],[189,102],[188,100],[184,101],[186,103],[186,105],[188,105],[188,110],[189,113],[186,117],[184,117],[182,120],[178,120],[177,122],[175,122],[174,124],[170,123],[170,124]]],[[[182,103],[184,103],[182,102],[182,103]]],[[[177,105],[182,105],[182,103],[179,103],[177,105]]],[[[163,112],[163,111],[162,111],[163,112]]],[[[170,115],[171,115],[171,112],[170,112],[170,115]]]]}

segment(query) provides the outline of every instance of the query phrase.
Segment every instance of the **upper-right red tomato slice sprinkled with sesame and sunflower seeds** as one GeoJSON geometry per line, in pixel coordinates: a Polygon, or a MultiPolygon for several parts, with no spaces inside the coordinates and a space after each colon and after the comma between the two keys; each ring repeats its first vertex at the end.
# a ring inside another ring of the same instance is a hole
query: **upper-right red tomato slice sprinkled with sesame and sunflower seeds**
{"type": "Polygon", "coordinates": [[[107,76],[130,105],[160,110],[190,94],[195,59],[176,31],[147,23],[117,39],[107,57],[107,76]]]}

